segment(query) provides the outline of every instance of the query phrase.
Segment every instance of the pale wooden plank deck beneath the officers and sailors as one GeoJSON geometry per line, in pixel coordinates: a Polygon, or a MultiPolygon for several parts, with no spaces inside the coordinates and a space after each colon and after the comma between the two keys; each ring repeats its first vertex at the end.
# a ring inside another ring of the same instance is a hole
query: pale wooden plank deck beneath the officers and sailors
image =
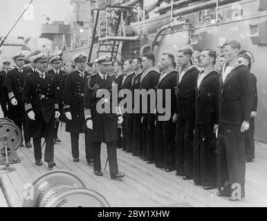
{"type": "MultiPolygon", "coordinates": [[[[70,135],[62,128],[59,133],[61,143],[55,145],[55,169],[72,171],[80,177],[88,189],[98,191],[107,198],[111,206],[267,206],[267,146],[257,143],[255,162],[246,164],[246,198],[230,202],[227,198],[214,195],[214,190],[205,191],[194,186],[192,180],[184,181],[172,173],[146,164],[130,153],[118,150],[120,171],[125,173],[122,181],[111,180],[109,166],[104,171],[107,160],[106,147],[102,146],[103,177],[93,174],[93,166],[87,166],[84,153],[84,137],[80,137],[80,162],[71,157],[70,135]]],[[[43,151],[44,152],[44,151],[43,151]]],[[[20,164],[11,164],[16,171],[1,173],[2,187],[8,198],[6,202],[0,190],[0,206],[21,206],[24,184],[31,183],[48,172],[47,164],[35,166],[33,148],[19,148],[20,164]]]]}

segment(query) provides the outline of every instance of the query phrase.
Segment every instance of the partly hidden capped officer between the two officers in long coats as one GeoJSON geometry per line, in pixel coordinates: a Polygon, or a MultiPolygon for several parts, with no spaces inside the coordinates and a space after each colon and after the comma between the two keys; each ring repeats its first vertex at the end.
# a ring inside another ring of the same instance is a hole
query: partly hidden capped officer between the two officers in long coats
{"type": "MultiPolygon", "coordinates": [[[[61,58],[60,56],[54,56],[49,60],[49,64],[52,64],[53,69],[49,70],[48,73],[50,75],[55,76],[55,81],[57,84],[57,101],[59,104],[59,112],[60,112],[60,120],[63,120],[62,117],[64,117],[63,114],[63,91],[64,91],[64,86],[65,86],[65,81],[66,81],[66,72],[63,70],[60,70],[60,61],[61,58]]],[[[55,128],[55,139],[54,139],[54,144],[55,142],[61,142],[61,140],[58,138],[58,127],[59,127],[59,121],[57,122],[56,128],[55,128]]]]}

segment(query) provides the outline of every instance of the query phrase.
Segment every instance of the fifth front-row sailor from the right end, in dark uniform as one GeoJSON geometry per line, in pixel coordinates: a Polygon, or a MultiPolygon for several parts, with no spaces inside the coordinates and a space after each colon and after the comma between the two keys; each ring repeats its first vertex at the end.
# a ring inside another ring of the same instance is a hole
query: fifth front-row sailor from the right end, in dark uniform
{"type": "MultiPolygon", "coordinates": [[[[142,73],[140,79],[140,90],[146,91],[155,90],[158,84],[160,73],[154,68],[155,56],[147,54],[142,57],[142,68],[145,72],[142,73]]],[[[142,95],[140,96],[142,103],[142,95]]],[[[148,161],[148,164],[155,162],[155,119],[154,110],[151,110],[150,97],[147,96],[147,104],[141,104],[142,109],[142,157],[148,161]]]]}

